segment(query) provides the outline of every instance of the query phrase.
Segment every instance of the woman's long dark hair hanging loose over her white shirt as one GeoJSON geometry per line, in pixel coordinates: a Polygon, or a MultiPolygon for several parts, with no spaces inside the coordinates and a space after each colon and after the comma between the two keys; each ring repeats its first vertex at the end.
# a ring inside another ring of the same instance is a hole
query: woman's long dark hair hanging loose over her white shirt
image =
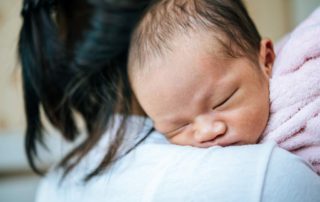
{"type": "Polygon", "coordinates": [[[86,138],[60,162],[65,175],[112,126],[114,114],[122,114],[115,138],[86,180],[115,160],[132,105],[127,76],[130,34],[146,5],[147,1],[138,0],[24,0],[19,57],[25,148],[35,172],[42,173],[35,162],[37,145],[44,144],[41,108],[69,141],[79,136],[75,113],[84,120],[86,138]]]}

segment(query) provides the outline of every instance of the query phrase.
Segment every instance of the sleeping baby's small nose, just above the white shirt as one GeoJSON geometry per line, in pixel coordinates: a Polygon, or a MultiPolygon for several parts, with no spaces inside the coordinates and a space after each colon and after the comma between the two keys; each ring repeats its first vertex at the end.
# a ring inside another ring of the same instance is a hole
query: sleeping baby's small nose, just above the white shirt
{"type": "Polygon", "coordinates": [[[210,118],[199,117],[195,121],[194,131],[195,140],[203,143],[224,135],[227,131],[227,125],[223,121],[214,121],[210,118]]]}

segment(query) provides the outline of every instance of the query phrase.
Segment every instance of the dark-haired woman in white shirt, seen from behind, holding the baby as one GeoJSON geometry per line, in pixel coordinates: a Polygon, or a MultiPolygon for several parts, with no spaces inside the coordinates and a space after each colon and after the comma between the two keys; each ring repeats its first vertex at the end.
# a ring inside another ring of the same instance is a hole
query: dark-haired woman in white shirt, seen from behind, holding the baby
{"type": "Polygon", "coordinates": [[[148,2],[76,2],[24,1],[19,52],[31,167],[40,172],[33,160],[42,137],[40,106],[65,139],[78,136],[75,112],[87,134],[49,171],[37,201],[320,198],[320,179],[274,143],[209,149],[169,144],[139,115],[127,79],[130,32],[148,2]],[[74,22],[87,8],[89,21],[78,26],[74,22]]]}

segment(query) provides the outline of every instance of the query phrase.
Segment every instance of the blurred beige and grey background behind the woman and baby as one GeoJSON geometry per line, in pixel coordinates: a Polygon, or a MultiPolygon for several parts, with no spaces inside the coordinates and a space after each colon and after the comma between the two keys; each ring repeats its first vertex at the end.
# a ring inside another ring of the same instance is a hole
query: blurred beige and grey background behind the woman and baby
{"type": "MultiPolygon", "coordinates": [[[[274,42],[305,19],[320,0],[245,0],[260,33],[274,42]]],[[[34,201],[40,177],[34,175],[24,154],[24,112],[17,41],[22,0],[0,0],[0,202],[34,201]]],[[[54,130],[48,130],[54,161],[69,148],[54,130]]]]}

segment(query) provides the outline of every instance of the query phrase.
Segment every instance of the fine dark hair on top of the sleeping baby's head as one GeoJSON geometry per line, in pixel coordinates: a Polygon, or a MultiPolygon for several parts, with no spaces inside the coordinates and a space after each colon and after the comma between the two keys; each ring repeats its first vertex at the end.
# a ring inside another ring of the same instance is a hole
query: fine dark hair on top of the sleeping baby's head
{"type": "Polygon", "coordinates": [[[142,66],[169,51],[177,34],[198,30],[212,33],[228,56],[257,60],[261,36],[241,0],[158,0],[132,34],[129,62],[142,66]]]}

